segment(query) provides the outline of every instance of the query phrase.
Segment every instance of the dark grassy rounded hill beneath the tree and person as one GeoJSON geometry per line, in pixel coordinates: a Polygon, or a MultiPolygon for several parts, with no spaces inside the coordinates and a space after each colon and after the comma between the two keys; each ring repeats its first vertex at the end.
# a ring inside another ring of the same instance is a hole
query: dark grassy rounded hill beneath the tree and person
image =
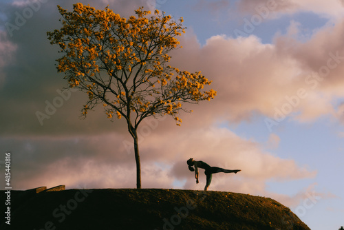
{"type": "Polygon", "coordinates": [[[309,229],[270,198],[178,189],[12,191],[10,223],[1,229],[309,229]]]}

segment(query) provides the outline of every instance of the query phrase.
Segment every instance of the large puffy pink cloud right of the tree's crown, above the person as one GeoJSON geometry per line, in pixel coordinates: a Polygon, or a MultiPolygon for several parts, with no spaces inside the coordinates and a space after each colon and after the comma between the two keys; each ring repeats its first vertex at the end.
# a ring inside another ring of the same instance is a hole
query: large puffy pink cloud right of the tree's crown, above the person
{"type": "MultiPolygon", "coordinates": [[[[188,43],[195,43],[195,41],[188,43]]],[[[231,39],[213,36],[199,50],[185,50],[173,58],[188,56],[189,68],[202,66],[202,72],[213,80],[217,98],[208,105],[211,111],[231,121],[250,118],[252,112],[273,115],[273,107],[286,94],[297,90],[292,76],[299,71],[293,59],[279,55],[275,45],[261,44],[256,36],[231,39]]],[[[190,46],[191,49],[193,45],[190,46]]],[[[186,67],[186,63],[178,63],[186,67]]]]}

